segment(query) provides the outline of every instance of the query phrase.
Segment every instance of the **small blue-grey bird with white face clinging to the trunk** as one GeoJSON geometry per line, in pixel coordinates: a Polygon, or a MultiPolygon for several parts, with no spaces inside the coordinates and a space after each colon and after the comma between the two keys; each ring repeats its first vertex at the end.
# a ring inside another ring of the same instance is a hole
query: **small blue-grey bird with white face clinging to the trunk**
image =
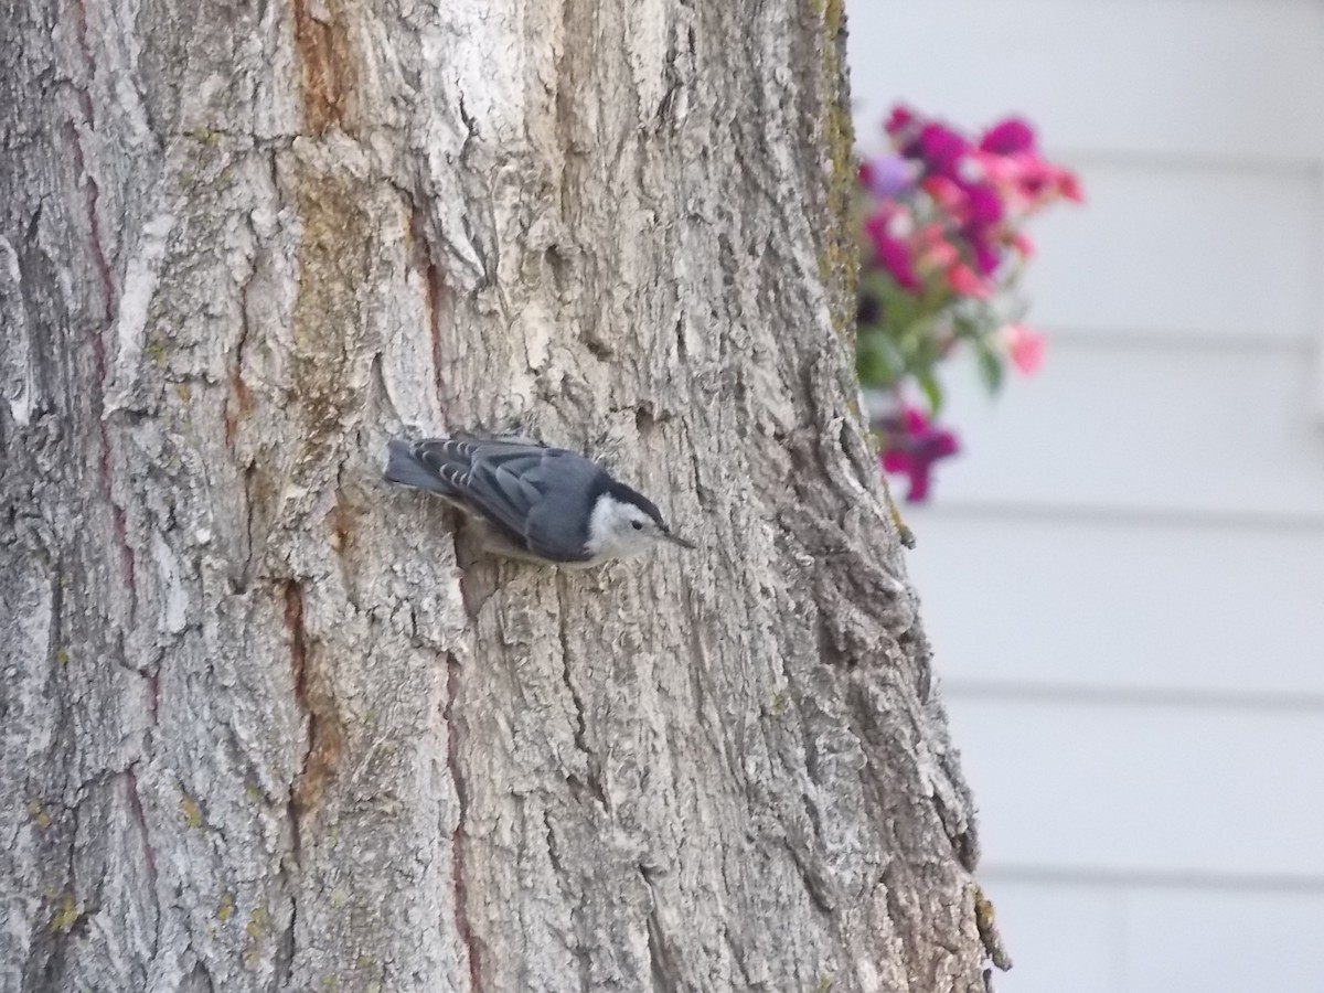
{"type": "Polygon", "coordinates": [[[511,438],[392,438],[387,451],[388,483],[444,496],[496,555],[587,568],[657,542],[694,548],[651,500],[575,451],[511,438]]]}

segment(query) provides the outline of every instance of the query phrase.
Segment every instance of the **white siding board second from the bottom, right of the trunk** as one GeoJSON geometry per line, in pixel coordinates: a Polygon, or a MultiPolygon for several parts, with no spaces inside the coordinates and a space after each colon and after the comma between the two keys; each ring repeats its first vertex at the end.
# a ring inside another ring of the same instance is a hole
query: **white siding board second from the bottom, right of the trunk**
{"type": "Polygon", "coordinates": [[[990,871],[1324,878],[1324,715],[948,702],[990,871]]]}

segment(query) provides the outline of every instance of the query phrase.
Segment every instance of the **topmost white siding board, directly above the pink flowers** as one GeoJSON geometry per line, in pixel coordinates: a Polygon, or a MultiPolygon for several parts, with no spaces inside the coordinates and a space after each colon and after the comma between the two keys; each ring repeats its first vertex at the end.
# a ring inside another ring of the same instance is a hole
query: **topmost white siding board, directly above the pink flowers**
{"type": "Polygon", "coordinates": [[[1324,8],[1259,0],[849,5],[861,135],[895,99],[1050,146],[1301,162],[1324,150],[1324,8]]]}

